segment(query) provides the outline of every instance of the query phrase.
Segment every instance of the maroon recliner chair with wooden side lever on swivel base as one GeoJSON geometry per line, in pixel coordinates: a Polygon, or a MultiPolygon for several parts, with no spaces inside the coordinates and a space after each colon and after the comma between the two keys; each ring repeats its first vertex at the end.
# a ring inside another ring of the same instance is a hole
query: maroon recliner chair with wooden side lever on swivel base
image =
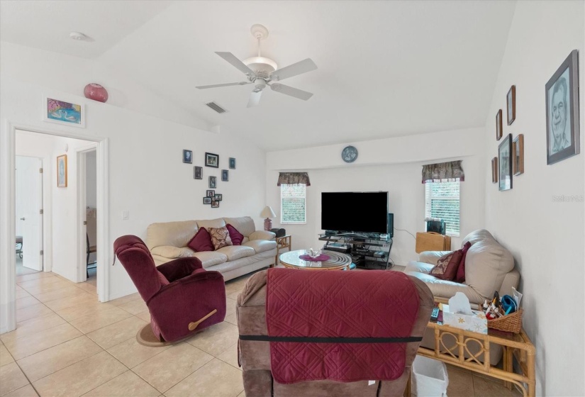
{"type": "Polygon", "coordinates": [[[207,272],[196,257],[157,267],[135,235],[118,237],[113,248],[148,306],[152,332],[159,340],[181,340],[225,318],[223,276],[207,272]]]}

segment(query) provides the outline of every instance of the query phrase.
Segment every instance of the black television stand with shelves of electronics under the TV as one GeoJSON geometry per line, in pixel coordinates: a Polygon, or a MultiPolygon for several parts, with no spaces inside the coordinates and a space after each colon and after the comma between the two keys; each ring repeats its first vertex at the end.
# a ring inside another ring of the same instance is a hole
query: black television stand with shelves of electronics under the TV
{"type": "MultiPolygon", "coordinates": [[[[355,233],[323,233],[320,241],[325,241],[323,250],[344,252],[352,257],[352,262],[360,269],[387,270],[390,264],[392,239],[389,235],[357,235],[355,233]],[[362,237],[363,236],[363,237],[362,237]]],[[[390,264],[390,267],[394,266],[390,264]]]]}

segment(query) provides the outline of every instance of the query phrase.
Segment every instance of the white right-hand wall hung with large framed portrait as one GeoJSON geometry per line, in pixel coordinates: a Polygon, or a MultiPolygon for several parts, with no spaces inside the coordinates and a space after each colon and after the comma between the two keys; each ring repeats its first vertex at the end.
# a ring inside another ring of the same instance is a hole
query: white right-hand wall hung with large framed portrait
{"type": "MultiPolygon", "coordinates": [[[[525,173],[498,191],[486,168],[486,226],[508,247],[522,274],[523,324],[536,352],[537,396],[584,396],[584,127],[585,3],[518,1],[494,98],[487,113],[486,164],[497,155],[494,119],[506,114],[516,84],[516,121],[503,133],[524,134],[525,173]],[[581,154],[547,165],[545,84],[579,50],[581,154]],[[573,202],[554,196],[576,195],[573,202]]],[[[506,118],[506,116],[504,116],[506,118]]]]}

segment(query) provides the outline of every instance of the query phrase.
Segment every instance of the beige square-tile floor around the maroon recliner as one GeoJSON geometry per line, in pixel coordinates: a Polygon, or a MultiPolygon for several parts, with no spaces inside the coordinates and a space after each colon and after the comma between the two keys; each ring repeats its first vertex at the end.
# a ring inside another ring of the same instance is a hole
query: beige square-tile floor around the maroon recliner
{"type": "MultiPolygon", "coordinates": [[[[91,276],[17,277],[18,327],[0,335],[0,396],[244,396],[235,299],[247,276],[226,283],[223,323],[170,347],[139,345],[150,315],[138,293],[98,303],[91,276]]],[[[454,367],[449,377],[449,396],[518,395],[454,367]]]]}

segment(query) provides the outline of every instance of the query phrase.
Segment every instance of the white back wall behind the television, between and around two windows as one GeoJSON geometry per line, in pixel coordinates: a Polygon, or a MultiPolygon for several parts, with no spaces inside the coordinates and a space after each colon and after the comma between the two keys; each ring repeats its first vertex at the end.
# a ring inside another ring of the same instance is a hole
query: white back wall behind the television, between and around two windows
{"type": "MultiPolygon", "coordinates": [[[[293,235],[294,249],[321,247],[322,191],[389,191],[389,211],[394,213],[394,228],[424,231],[425,188],[421,183],[423,164],[463,160],[465,181],[461,184],[461,236],[452,239],[459,247],[462,238],[484,223],[484,148],[483,128],[409,135],[384,140],[354,142],[359,151],[356,162],[345,164],[341,150],[345,145],[284,150],[267,154],[267,205],[277,213],[273,227],[279,227],[280,189],[278,173],[308,172],[306,225],[282,225],[293,235]]],[[[415,239],[394,230],[391,259],[407,264],[416,259],[415,239]]]]}

